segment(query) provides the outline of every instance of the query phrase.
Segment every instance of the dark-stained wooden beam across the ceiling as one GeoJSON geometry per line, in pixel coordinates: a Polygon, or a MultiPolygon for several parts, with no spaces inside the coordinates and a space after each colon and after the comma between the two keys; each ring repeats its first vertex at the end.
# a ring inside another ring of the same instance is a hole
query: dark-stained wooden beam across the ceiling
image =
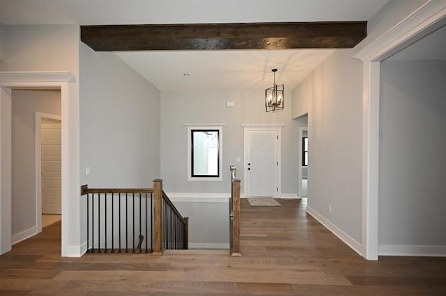
{"type": "Polygon", "coordinates": [[[81,26],[95,51],[339,49],[367,36],[367,22],[81,26]]]}

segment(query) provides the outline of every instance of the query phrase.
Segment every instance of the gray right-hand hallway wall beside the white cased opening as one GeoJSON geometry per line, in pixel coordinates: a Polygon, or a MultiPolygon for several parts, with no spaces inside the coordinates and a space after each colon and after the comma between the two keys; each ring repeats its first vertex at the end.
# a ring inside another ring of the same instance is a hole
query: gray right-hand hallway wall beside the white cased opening
{"type": "Polygon", "coordinates": [[[308,113],[309,208],[360,242],[362,63],[351,56],[336,51],[300,83],[293,115],[308,113]]]}

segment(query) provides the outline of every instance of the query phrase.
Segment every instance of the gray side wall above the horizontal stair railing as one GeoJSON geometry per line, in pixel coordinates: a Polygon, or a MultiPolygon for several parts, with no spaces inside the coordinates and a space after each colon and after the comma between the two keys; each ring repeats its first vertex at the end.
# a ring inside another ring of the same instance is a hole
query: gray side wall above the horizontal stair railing
{"type": "Polygon", "coordinates": [[[160,92],[115,54],[79,46],[81,183],[151,188],[160,178],[160,92]]]}

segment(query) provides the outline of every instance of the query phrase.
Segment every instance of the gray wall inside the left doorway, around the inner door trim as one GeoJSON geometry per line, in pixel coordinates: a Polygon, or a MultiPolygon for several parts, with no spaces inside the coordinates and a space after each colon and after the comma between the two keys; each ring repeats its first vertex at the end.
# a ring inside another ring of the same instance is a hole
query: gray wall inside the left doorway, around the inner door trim
{"type": "Polygon", "coordinates": [[[14,236],[36,227],[35,112],[61,115],[61,92],[13,90],[12,102],[12,234],[14,236]]]}

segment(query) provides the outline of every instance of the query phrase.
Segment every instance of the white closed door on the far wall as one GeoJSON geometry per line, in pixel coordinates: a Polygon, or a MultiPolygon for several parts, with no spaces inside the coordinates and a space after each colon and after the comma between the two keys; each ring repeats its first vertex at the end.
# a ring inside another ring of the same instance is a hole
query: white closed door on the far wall
{"type": "Polygon", "coordinates": [[[248,197],[277,197],[277,146],[277,131],[247,131],[248,197]]]}

